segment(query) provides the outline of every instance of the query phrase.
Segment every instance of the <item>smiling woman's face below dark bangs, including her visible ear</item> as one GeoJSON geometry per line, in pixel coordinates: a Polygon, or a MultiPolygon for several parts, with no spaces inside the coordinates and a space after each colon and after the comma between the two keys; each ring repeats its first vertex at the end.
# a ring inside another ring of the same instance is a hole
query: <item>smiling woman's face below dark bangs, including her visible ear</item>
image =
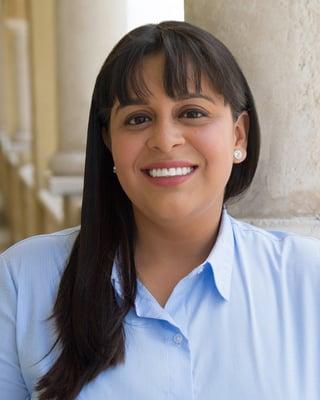
{"type": "Polygon", "coordinates": [[[145,58],[150,95],[112,108],[109,134],[119,182],[136,218],[168,225],[220,215],[234,149],[245,158],[248,116],[234,122],[230,106],[205,80],[201,95],[168,97],[163,67],[161,54],[145,58]]]}

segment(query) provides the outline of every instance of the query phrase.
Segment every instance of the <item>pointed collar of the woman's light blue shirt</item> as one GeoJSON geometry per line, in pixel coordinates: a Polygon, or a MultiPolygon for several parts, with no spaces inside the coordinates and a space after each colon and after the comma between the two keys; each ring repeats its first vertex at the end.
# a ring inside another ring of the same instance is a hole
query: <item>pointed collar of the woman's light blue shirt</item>
{"type": "MultiPolygon", "coordinates": [[[[216,242],[202,265],[210,265],[217,290],[227,301],[230,299],[234,262],[234,236],[231,218],[227,210],[223,208],[216,242]]],[[[122,288],[116,260],[112,267],[111,282],[117,294],[122,297],[122,288]]]]}

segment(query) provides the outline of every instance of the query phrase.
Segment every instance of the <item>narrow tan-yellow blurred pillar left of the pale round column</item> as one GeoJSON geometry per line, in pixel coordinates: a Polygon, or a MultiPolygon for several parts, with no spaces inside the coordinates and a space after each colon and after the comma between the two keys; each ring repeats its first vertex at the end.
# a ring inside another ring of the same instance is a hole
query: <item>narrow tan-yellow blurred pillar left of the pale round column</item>
{"type": "Polygon", "coordinates": [[[38,189],[47,187],[48,162],[57,150],[55,0],[28,0],[32,83],[33,164],[38,189]]]}

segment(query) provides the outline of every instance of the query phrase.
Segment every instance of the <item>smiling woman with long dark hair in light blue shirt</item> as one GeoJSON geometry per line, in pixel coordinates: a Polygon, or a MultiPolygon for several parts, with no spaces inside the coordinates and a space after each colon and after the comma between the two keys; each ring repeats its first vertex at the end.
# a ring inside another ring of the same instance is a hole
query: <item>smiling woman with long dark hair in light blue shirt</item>
{"type": "Polygon", "coordinates": [[[2,255],[2,398],[318,399],[319,241],[224,207],[258,154],[223,44],[127,34],[96,81],[81,229],[2,255]]]}

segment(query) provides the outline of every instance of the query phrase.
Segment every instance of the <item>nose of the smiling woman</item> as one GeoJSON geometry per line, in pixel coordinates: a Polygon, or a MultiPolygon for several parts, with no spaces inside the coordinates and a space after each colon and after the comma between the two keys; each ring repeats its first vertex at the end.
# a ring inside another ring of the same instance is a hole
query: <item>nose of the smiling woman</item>
{"type": "Polygon", "coordinates": [[[149,149],[162,153],[169,153],[184,143],[185,138],[182,127],[178,126],[174,121],[159,121],[155,123],[147,140],[149,149]]]}

